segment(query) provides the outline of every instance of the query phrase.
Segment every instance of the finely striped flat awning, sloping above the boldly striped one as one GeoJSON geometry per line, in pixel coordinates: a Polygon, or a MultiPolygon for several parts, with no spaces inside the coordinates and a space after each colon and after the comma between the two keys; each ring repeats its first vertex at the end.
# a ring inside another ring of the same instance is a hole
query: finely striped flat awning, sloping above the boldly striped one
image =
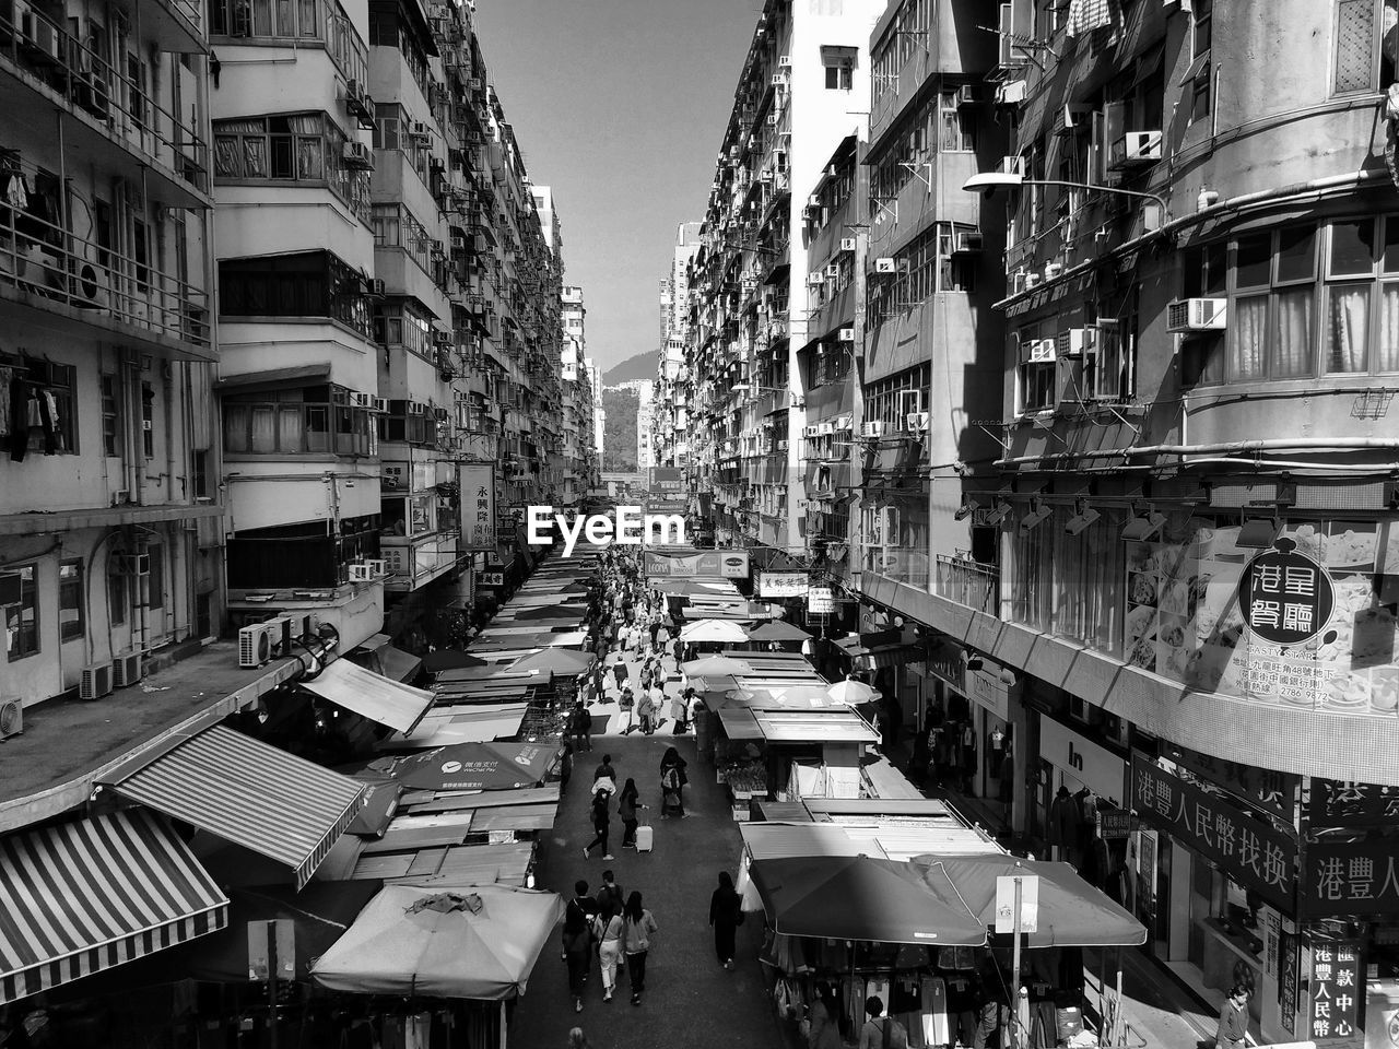
{"type": "Polygon", "coordinates": [[[178,738],[116,769],[108,785],[132,801],[285,863],[297,885],[364,804],[365,785],[222,725],[178,738]]]}

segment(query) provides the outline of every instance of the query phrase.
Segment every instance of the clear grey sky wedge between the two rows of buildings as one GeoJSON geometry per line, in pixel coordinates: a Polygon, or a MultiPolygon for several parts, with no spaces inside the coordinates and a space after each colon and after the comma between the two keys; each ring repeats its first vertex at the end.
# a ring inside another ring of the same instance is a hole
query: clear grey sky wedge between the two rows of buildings
{"type": "Polygon", "coordinates": [[[659,345],[676,227],[704,218],[761,0],[477,0],[490,80],[562,222],[606,372],[659,345]]]}

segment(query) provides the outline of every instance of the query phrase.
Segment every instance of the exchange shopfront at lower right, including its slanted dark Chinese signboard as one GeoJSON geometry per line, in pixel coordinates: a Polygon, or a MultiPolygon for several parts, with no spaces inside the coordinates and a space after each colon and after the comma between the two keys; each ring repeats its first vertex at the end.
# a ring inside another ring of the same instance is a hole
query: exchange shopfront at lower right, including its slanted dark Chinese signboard
{"type": "Polygon", "coordinates": [[[1158,959],[1213,1003],[1251,987],[1260,1041],[1290,1042],[1309,1036],[1297,1022],[1309,950],[1295,913],[1297,838],[1284,804],[1260,804],[1269,773],[1252,772],[1234,776],[1247,783],[1241,797],[1184,764],[1132,755],[1130,803],[1149,828],[1132,852],[1132,902],[1158,959]]]}

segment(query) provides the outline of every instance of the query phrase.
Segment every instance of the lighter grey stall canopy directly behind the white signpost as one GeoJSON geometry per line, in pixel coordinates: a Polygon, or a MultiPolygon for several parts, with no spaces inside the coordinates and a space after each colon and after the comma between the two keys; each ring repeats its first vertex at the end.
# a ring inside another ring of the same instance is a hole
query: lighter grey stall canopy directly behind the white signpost
{"type": "Polygon", "coordinates": [[[914,866],[929,881],[950,878],[981,920],[996,923],[996,878],[1034,874],[1039,878],[1038,930],[1025,933],[1030,947],[1136,947],[1146,927],[1081,877],[1067,863],[1021,860],[1016,856],[918,856],[914,866]]]}

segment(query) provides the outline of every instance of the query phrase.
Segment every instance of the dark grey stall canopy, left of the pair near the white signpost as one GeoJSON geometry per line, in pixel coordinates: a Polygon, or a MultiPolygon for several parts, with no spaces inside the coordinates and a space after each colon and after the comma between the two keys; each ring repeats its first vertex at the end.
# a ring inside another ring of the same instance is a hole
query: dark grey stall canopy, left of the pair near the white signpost
{"type": "MultiPolygon", "coordinates": [[[[754,860],[748,874],[772,929],[876,943],[981,947],[986,926],[956,888],[911,863],[872,856],[754,860]]],[[[992,883],[995,895],[995,883],[992,883]]]]}

